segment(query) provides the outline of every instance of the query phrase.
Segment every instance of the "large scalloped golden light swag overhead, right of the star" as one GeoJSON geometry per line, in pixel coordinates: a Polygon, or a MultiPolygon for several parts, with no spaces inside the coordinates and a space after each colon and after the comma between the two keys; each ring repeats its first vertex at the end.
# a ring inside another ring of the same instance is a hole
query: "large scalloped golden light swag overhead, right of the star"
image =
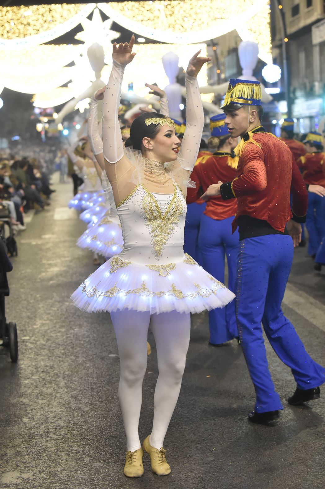
{"type": "Polygon", "coordinates": [[[269,0],[228,0],[222,3],[219,0],[124,1],[98,3],[98,7],[131,32],[163,42],[168,38],[174,44],[200,43],[234,29],[241,36],[241,29],[245,27],[245,37],[248,34],[252,37],[253,31],[257,31],[252,40],[261,46],[261,59],[271,53],[269,0]],[[189,12],[188,16],[184,12],[189,12]],[[253,18],[254,22],[251,22],[253,18]],[[181,19],[181,22],[175,22],[175,19],[181,19]],[[203,27],[198,29],[197,26],[203,27]]]}

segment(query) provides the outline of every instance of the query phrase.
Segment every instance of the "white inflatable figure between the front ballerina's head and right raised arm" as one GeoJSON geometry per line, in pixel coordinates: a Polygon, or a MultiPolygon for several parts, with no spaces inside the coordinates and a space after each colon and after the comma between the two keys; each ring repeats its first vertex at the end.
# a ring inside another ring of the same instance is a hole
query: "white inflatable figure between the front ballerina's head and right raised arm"
{"type": "Polygon", "coordinates": [[[179,109],[179,104],[182,102],[183,87],[176,82],[179,58],[177,54],[169,52],[164,54],[161,59],[169,80],[169,85],[164,88],[168,99],[169,115],[173,119],[180,120],[182,119],[182,113],[179,109]]]}

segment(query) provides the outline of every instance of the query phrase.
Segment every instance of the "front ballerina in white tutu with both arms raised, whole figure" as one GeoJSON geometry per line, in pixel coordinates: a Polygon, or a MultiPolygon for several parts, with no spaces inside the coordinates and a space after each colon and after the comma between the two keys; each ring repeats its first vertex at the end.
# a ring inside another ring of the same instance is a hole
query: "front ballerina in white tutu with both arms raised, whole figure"
{"type": "Polygon", "coordinates": [[[152,433],[144,443],[152,470],[167,475],[163,442],[176,405],[190,341],[191,312],[223,307],[234,294],[184,255],[189,176],[195,164],[204,114],[196,75],[210,58],[190,60],[185,74],[187,128],[179,140],[173,121],[155,112],[138,116],[123,151],[118,108],[130,43],[113,45],[113,67],[104,96],[103,144],[106,173],[122,224],[123,251],[98,268],[73,293],[85,311],[109,311],[117,338],[119,399],[127,435],[124,473],[143,474],[138,424],[147,366],[149,323],[155,337],[159,376],[152,433]]]}

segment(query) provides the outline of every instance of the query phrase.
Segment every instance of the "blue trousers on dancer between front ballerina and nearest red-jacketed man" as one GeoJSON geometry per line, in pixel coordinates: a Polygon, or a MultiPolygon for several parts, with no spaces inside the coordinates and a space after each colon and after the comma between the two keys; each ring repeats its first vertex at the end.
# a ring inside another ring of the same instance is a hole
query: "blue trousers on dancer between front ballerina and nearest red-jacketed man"
{"type": "MultiPolygon", "coordinates": [[[[236,262],[239,234],[231,233],[234,217],[216,221],[202,214],[198,246],[202,256],[202,267],[224,283],[225,256],[228,263],[228,289],[235,291],[236,262]]],[[[210,343],[224,343],[238,336],[235,302],[222,309],[209,311],[210,343]]]]}

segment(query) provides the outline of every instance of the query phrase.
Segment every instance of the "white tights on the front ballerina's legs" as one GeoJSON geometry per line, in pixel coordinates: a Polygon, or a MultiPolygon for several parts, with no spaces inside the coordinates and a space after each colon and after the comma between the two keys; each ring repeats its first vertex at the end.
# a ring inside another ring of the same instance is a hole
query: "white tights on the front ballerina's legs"
{"type": "Polygon", "coordinates": [[[154,414],[150,445],[161,448],[179,396],[186,354],[190,343],[191,317],[176,311],[111,312],[120,356],[121,377],[118,388],[128,450],[140,448],[139,418],[142,382],[147,369],[149,323],[154,335],[158,379],[154,391],[154,414]]]}

